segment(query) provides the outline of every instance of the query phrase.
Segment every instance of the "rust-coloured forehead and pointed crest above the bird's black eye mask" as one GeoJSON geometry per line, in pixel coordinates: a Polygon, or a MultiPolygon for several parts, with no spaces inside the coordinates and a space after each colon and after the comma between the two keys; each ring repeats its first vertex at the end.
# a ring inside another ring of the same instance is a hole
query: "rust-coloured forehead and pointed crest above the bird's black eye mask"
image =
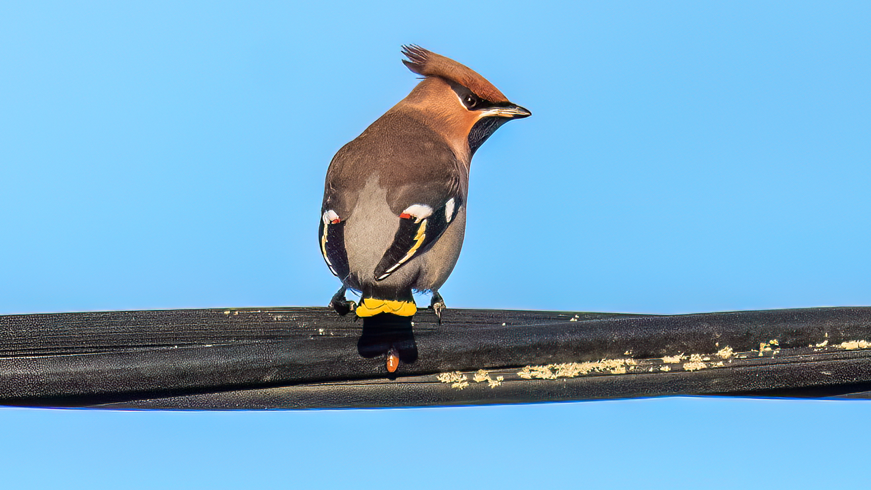
{"type": "Polygon", "coordinates": [[[424,50],[415,44],[402,46],[402,54],[408,57],[408,60],[403,59],[402,63],[408,66],[408,70],[419,75],[447,78],[490,102],[508,102],[508,98],[493,84],[490,84],[487,78],[482,77],[465,64],[457,63],[449,57],[443,57],[430,50],[424,50]]]}

